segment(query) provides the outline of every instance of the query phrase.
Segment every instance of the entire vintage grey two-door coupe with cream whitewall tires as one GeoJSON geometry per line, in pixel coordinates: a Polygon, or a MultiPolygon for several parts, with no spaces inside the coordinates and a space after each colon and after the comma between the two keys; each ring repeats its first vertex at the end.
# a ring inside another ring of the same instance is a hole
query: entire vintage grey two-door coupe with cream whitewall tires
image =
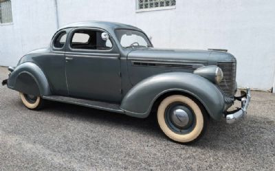
{"type": "Polygon", "coordinates": [[[164,134],[179,143],[199,139],[208,117],[235,122],[250,102],[250,89],[234,96],[236,58],[226,50],[157,49],[142,30],[121,23],[65,25],[50,47],[8,69],[2,84],[19,91],[28,109],[52,100],[133,117],[156,115],[164,134]],[[228,112],[234,100],[241,106],[228,112]]]}

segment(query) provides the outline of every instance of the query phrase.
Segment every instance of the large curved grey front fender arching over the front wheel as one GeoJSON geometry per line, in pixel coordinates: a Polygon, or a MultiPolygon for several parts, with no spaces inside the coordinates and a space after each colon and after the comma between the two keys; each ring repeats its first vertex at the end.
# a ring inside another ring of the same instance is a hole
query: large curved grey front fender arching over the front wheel
{"type": "Polygon", "coordinates": [[[160,73],[142,80],[125,95],[120,108],[126,115],[147,117],[155,100],[169,91],[181,91],[197,98],[213,119],[219,120],[222,116],[225,104],[215,84],[193,73],[182,72],[160,73]]]}

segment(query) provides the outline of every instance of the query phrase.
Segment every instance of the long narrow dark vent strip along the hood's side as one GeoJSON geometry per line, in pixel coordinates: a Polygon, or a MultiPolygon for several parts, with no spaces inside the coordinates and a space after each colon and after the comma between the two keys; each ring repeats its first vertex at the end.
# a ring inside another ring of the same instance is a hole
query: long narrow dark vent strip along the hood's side
{"type": "Polygon", "coordinates": [[[141,67],[174,67],[174,68],[183,68],[183,69],[197,69],[203,67],[201,64],[183,64],[175,62],[140,62],[132,61],[133,66],[141,67]]]}

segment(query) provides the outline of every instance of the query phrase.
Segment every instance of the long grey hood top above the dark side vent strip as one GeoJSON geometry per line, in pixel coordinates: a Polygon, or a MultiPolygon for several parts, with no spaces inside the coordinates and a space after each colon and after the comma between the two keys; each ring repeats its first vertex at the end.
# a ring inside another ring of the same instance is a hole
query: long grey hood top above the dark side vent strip
{"type": "Polygon", "coordinates": [[[164,61],[192,61],[216,65],[217,61],[234,60],[228,52],[197,49],[159,49],[144,48],[133,49],[128,54],[128,60],[164,60],[164,61]]]}

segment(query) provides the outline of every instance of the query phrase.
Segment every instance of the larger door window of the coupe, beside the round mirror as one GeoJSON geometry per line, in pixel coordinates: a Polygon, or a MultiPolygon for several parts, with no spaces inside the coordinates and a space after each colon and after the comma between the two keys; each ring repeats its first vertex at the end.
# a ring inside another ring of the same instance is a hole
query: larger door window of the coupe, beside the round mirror
{"type": "Polygon", "coordinates": [[[72,49],[108,50],[113,47],[110,40],[101,38],[102,32],[95,30],[77,30],[71,40],[72,49]]]}

